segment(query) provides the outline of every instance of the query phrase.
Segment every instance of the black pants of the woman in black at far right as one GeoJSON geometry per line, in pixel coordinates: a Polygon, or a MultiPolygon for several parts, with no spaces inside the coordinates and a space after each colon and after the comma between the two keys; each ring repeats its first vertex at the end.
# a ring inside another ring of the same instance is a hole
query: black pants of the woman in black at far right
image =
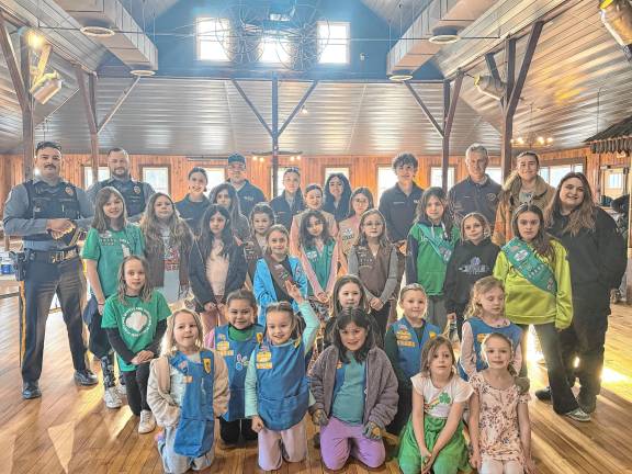
{"type": "MultiPolygon", "coordinates": [[[[597,295],[595,295],[597,296],[597,295]]],[[[603,369],[603,346],[610,314],[609,295],[590,301],[573,298],[573,324],[560,332],[562,360],[571,386],[579,377],[582,392],[597,396],[601,391],[601,370],[603,369]],[[579,365],[575,368],[575,358],[579,365]]]]}

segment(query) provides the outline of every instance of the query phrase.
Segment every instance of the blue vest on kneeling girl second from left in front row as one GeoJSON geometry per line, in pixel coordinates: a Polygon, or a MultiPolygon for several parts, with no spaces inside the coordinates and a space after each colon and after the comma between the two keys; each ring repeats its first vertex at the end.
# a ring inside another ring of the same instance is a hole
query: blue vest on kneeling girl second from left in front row
{"type": "Polygon", "coordinates": [[[236,341],[228,335],[228,325],[215,328],[215,350],[224,358],[228,366],[228,381],[230,383],[230,400],[228,411],[223,418],[235,421],[245,418],[245,390],[246,372],[249,358],[257,345],[263,339],[263,328],[255,325],[252,338],[246,341],[236,341]]]}

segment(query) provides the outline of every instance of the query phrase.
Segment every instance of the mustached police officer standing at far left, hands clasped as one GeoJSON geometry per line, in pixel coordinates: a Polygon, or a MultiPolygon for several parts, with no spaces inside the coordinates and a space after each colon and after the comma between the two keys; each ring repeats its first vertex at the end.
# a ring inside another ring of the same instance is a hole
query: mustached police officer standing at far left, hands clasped
{"type": "Polygon", "coordinates": [[[25,278],[20,292],[20,360],[22,396],[42,396],[38,380],[44,356],[46,319],[53,296],[59,298],[68,330],[75,381],[97,384],[86,363],[81,309],[86,278],[77,239],[90,225],[92,204],[83,190],[60,177],[61,147],[41,142],[35,148],[34,179],[13,188],[4,205],[4,232],[24,240],[25,278]]]}

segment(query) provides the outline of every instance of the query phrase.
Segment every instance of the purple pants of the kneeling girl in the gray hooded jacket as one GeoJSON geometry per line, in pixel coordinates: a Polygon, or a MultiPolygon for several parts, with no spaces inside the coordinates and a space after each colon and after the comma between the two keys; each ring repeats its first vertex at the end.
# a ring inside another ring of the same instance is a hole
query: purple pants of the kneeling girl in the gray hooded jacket
{"type": "Polygon", "coordinates": [[[342,469],[349,455],[369,467],[379,467],[384,463],[384,443],[365,438],[363,429],[362,425],[348,425],[334,417],[329,418],[327,426],[320,427],[320,455],[327,469],[342,469]]]}

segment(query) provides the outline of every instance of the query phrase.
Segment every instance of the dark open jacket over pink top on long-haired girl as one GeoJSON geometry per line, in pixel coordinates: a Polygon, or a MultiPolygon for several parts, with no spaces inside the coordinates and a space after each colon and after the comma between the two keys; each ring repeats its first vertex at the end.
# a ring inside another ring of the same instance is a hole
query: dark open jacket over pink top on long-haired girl
{"type": "MultiPolygon", "coordinates": [[[[198,241],[193,242],[191,248],[191,255],[189,258],[189,280],[191,283],[191,290],[193,290],[193,295],[195,301],[200,306],[204,306],[206,303],[224,303],[223,301],[217,301],[211,283],[206,279],[206,260],[211,249],[205,249],[198,241]]],[[[239,290],[244,286],[246,281],[246,271],[248,266],[246,264],[246,257],[244,256],[244,248],[241,246],[234,245],[228,251],[228,274],[226,275],[226,286],[224,291],[224,301],[226,296],[239,290]]]]}

